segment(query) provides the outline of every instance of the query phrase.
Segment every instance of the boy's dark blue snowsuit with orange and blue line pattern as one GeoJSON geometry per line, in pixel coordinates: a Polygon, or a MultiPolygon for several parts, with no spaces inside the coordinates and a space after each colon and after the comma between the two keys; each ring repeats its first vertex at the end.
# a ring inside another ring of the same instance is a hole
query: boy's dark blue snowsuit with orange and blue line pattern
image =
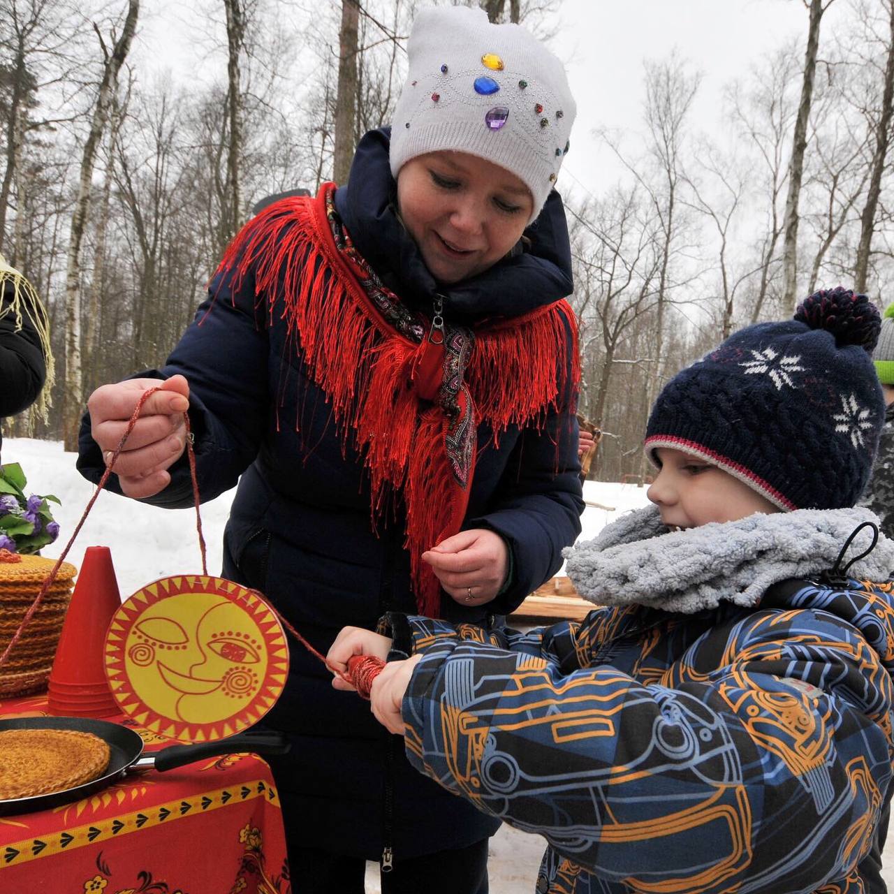
{"type": "Polygon", "coordinates": [[[548,840],[541,894],[884,891],[892,586],[789,579],[754,608],[528,634],[389,616],[423,654],[407,754],[548,840]]]}

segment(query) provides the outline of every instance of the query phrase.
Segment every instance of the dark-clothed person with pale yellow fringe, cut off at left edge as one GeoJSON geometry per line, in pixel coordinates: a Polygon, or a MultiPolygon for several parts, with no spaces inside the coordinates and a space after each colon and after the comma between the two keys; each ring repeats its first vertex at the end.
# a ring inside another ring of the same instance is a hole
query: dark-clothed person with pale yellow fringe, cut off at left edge
{"type": "Polygon", "coordinates": [[[31,283],[0,255],[0,417],[35,403],[43,416],[52,384],[46,310],[31,283]]]}

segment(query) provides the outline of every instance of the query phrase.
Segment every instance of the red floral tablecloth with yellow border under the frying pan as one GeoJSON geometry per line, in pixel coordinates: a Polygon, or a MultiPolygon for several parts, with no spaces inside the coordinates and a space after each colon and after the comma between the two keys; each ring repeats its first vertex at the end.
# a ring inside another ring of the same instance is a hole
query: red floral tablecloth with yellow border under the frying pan
{"type": "MultiPolygon", "coordinates": [[[[0,701],[44,716],[46,696],[0,701]]],[[[147,751],[171,744],[119,715],[147,751]]],[[[54,894],[290,894],[279,798],[257,755],[141,770],[83,800],[0,816],[0,890],[54,894]]]]}

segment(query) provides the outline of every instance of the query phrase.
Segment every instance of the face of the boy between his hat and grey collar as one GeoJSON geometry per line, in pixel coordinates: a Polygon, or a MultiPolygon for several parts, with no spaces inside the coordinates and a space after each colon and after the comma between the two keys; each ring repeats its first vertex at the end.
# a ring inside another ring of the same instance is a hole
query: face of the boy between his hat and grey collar
{"type": "Polygon", "coordinates": [[[760,493],[700,457],[670,447],[655,451],[661,469],[647,496],[668,527],[738,521],[755,512],[780,511],[760,493]]]}

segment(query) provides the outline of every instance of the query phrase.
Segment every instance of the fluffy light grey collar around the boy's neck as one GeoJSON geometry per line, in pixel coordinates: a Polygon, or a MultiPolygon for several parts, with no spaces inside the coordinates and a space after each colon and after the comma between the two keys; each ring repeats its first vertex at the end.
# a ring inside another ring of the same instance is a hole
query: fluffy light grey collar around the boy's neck
{"type": "MultiPolygon", "coordinates": [[[[769,586],[788,578],[814,578],[831,569],[841,547],[864,521],[879,524],[864,507],[757,513],[669,531],[657,506],[625,513],[595,540],[564,551],[578,593],[597,605],[639,603],[687,614],[721,601],[756,605],[769,586]]],[[[844,562],[872,543],[856,536],[844,562]]],[[[894,570],[894,542],[879,536],[848,576],[887,580],[894,570]]]]}

